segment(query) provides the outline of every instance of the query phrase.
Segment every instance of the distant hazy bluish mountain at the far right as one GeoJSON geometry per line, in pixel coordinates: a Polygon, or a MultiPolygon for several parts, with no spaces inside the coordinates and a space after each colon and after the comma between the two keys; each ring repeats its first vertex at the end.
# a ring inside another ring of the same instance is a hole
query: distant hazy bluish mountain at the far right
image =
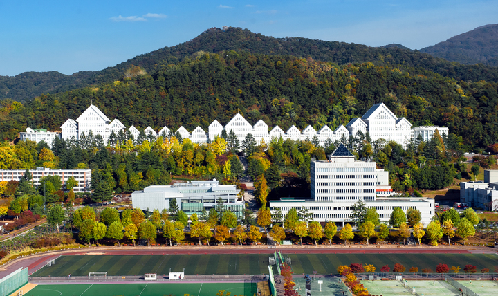
{"type": "Polygon", "coordinates": [[[420,51],[461,64],[498,66],[498,24],[475,28],[420,51]]]}

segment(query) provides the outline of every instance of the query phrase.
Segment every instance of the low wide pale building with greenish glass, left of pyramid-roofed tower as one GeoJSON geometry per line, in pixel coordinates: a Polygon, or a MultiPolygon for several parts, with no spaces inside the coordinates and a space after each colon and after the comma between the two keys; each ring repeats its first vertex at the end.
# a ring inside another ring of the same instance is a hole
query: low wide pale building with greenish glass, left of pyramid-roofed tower
{"type": "Polygon", "coordinates": [[[185,214],[201,214],[209,212],[216,206],[219,198],[223,206],[239,218],[244,214],[244,203],[239,201],[239,192],[235,185],[219,185],[219,181],[190,181],[189,183],[174,183],[173,185],[152,185],[133,192],[131,201],[133,207],[142,210],[169,210],[169,201],[176,199],[180,210],[185,214]]]}

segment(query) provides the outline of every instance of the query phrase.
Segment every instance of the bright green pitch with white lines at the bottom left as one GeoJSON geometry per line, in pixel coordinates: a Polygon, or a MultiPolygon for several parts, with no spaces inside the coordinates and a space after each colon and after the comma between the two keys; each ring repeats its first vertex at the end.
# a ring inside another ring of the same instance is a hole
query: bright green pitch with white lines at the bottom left
{"type": "Polygon", "coordinates": [[[245,283],[174,283],[174,284],[82,284],[82,285],[38,285],[25,296],[213,296],[219,290],[232,295],[252,296],[257,294],[256,284],[245,283]]]}

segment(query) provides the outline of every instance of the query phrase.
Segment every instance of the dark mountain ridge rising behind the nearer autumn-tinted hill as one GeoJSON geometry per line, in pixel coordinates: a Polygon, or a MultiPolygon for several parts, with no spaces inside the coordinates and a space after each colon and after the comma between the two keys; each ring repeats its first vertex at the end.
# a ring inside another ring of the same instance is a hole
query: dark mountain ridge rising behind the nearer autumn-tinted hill
{"type": "Polygon", "coordinates": [[[165,47],[140,55],[102,71],[82,71],[73,75],[63,75],[55,71],[28,72],[14,77],[0,76],[0,99],[10,98],[24,102],[42,93],[58,93],[91,84],[122,80],[124,71],[132,65],[140,66],[147,72],[154,72],[160,66],[178,64],[199,51],[219,53],[226,50],[244,50],[263,55],[311,57],[317,61],[332,62],[339,66],[372,62],[377,66],[398,66],[403,69],[417,67],[457,80],[498,81],[498,68],[455,64],[396,44],[375,48],[301,37],[274,38],[241,28],[229,28],[227,31],[210,28],[198,37],[178,46],[165,47]]]}

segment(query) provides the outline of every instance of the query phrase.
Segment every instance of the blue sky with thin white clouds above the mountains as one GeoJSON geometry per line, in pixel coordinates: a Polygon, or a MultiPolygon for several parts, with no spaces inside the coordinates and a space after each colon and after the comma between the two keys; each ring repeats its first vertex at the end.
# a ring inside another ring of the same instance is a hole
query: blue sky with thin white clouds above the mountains
{"type": "Polygon", "coordinates": [[[498,0],[0,0],[0,75],[101,70],[223,25],[420,49],[497,24],[497,12],[498,0]]]}

